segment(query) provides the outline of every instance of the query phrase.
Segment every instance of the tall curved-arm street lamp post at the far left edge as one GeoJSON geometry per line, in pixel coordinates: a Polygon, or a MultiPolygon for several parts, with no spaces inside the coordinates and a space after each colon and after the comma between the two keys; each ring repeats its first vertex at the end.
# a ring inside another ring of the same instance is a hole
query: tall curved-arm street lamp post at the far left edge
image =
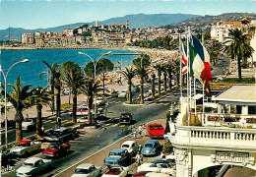
{"type": "Polygon", "coordinates": [[[29,59],[24,59],[22,61],[16,62],[13,64],[7,71],[6,75],[4,74],[4,71],[2,70],[2,66],[0,65],[0,70],[3,74],[4,81],[5,81],[5,145],[6,145],[6,150],[8,149],[8,141],[7,141],[7,100],[6,100],[6,87],[7,87],[7,77],[10,72],[10,70],[17,64],[19,63],[27,63],[29,62],[29,59]]]}

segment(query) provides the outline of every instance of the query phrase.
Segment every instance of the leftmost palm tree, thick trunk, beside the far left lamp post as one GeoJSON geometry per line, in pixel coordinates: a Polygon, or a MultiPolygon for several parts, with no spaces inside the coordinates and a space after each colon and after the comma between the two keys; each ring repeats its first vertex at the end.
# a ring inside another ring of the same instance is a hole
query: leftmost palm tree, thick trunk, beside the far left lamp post
{"type": "Polygon", "coordinates": [[[16,114],[15,114],[15,122],[16,122],[16,141],[20,141],[23,139],[23,130],[22,130],[22,122],[24,120],[23,111],[28,107],[31,107],[31,86],[27,85],[23,88],[21,76],[19,76],[16,80],[15,86],[8,85],[12,87],[12,93],[7,92],[7,99],[13,104],[16,114]]]}

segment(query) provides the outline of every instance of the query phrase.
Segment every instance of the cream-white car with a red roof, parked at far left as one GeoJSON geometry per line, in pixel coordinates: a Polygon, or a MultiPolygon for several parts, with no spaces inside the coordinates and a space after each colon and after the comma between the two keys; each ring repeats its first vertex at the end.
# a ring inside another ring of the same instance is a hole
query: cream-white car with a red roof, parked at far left
{"type": "Polygon", "coordinates": [[[10,153],[17,156],[29,156],[30,153],[40,149],[40,142],[32,142],[32,140],[18,141],[13,148],[10,149],[10,153]]]}

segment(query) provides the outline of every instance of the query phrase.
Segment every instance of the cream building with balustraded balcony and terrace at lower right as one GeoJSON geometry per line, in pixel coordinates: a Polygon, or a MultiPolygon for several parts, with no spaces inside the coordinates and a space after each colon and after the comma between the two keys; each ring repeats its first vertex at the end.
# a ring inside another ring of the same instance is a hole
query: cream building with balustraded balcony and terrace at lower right
{"type": "Polygon", "coordinates": [[[256,176],[255,86],[233,86],[197,105],[201,97],[194,96],[191,111],[189,99],[181,97],[176,123],[169,122],[165,138],[174,147],[176,176],[206,175],[211,167],[220,167],[222,176],[230,165],[256,176]]]}

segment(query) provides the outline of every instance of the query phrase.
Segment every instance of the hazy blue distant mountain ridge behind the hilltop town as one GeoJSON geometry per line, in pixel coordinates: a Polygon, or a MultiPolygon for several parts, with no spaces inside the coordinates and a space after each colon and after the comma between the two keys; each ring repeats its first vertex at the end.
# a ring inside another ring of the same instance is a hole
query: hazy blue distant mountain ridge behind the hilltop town
{"type": "MultiPolygon", "coordinates": [[[[125,24],[126,21],[129,21],[130,29],[143,28],[146,29],[148,27],[160,27],[166,24],[177,24],[181,21],[200,17],[199,15],[191,15],[191,14],[135,14],[135,15],[127,15],[124,17],[111,18],[105,21],[98,22],[99,25],[110,25],[110,24],[125,24]]],[[[48,29],[22,29],[22,28],[10,28],[11,39],[21,40],[21,33],[24,32],[34,32],[34,31],[63,31],[63,28],[73,28],[83,26],[84,24],[95,25],[95,22],[91,23],[76,23],[65,26],[59,26],[55,28],[48,29]]],[[[9,36],[9,29],[0,29],[0,40],[7,40],[9,36]]]]}

